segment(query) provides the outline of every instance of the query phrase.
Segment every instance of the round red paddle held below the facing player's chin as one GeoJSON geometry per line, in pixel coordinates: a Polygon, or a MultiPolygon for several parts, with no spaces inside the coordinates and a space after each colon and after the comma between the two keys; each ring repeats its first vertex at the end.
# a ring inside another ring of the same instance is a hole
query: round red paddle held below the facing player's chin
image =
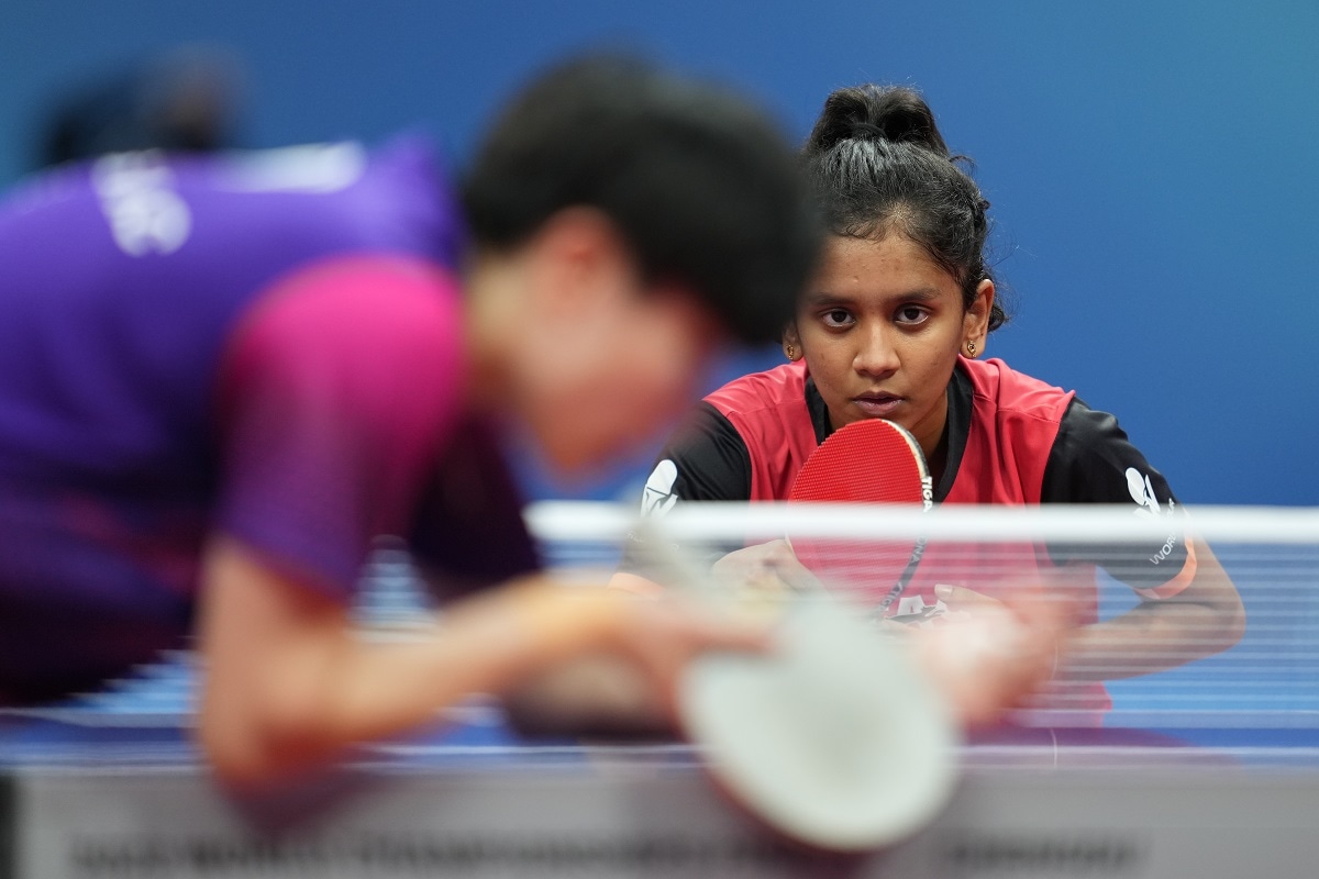
{"type": "MultiPolygon", "coordinates": [[[[934,506],[934,481],[915,438],[884,419],[853,422],[820,443],[798,470],[789,501],[934,506]]],[[[915,573],[925,540],[793,538],[797,559],[826,586],[882,617],[915,573]]]]}

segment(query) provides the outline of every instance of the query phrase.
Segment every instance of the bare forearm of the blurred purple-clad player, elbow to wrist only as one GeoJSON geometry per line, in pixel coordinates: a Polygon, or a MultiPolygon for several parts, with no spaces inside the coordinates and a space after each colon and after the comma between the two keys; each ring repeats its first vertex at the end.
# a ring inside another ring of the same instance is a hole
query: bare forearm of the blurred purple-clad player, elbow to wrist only
{"type": "Polygon", "coordinates": [[[565,656],[604,647],[623,601],[522,582],[455,605],[408,642],[373,643],[347,611],[226,546],[208,568],[202,743],[216,771],[255,784],[503,693],[565,656]],[[216,569],[218,567],[218,569],[216,569]]]}

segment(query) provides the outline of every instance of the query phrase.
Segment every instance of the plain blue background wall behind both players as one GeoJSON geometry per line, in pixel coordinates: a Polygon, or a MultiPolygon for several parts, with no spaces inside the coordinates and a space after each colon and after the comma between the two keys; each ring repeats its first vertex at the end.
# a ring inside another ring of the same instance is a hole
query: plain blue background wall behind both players
{"type": "MultiPolygon", "coordinates": [[[[459,163],[525,75],[580,46],[731,80],[794,137],[831,88],[919,86],[995,206],[1017,318],[991,353],[1116,411],[1184,501],[1319,503],[1314,0],[5,0],[0,183],[58,90],[183,41],[247,63],[251,145],[421,127],[459,163]]],[[[648,456],[529,484],[611,494],[648,456]]]]}

